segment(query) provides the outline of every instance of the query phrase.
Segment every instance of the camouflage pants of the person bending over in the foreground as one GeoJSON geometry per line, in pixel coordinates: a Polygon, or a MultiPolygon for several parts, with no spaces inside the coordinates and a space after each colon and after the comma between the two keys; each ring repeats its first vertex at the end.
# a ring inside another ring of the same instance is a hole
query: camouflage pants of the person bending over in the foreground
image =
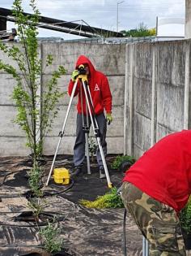
{"type": "Polygon", "coordinates": [[[185,244],[176,211],[149,197],[133,184],[122,184],[121,198],[142,235],[150,244],[150,256],[185,256],[185,244]]]}

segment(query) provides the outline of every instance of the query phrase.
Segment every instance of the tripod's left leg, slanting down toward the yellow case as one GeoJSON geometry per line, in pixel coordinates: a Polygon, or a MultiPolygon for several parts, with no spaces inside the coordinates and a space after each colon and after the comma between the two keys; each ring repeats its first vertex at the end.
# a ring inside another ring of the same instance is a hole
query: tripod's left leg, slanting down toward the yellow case
{"type": "Polygon", "coordinates": [[[50,171],[49,171],[49,176],[48,176],[48,179],[47,179],[47,181],[46,181],[46,186],[48,186],[50,176],[51,176],[51,174],[52,174],[52,172],[53,172],[53,166],[54,166],[54,163],[55,163],[56,158],[57,158],[57,151],[58,151],[58,149],[59,149],[59,146],[60,146],[62,137],[63,137],[63,135],[64,135],[64,130],[65,130],[65,127],[66,127],[66,121],[67,121],[67,119],[68,119],[68,115],[69,115],[69,112],[70,112],[70,106],[71,106],[72,100],[73,100],[73,98],[74,98],[74,93],[75,93],[75,89],[76,89],[76,87],[77,87],[77,84],[78,84],[78,79],[77,79],[77,80],[75,81],[75,83],[74,83],[74,88],[73,88],[72,93],[71,93],[71,96],[70,96],[70,102],[69,102],[69,105],[68,105],[68,108],[67,108],[67,111],[66,111],[66,118],[65,118],[64,124],[63,124],[63,126],[62,126],[62,132],[59,132],[59,135],[58,135],[58,136],[60,136],[60,138],[59,138],[59,141],[58,141],[58,143],[57,143],[57,149],[56,149],[55,154],[54,154],[54,157],[53,157],[53,163],[52,163],[51,168],[50,168],[50,171]]]}

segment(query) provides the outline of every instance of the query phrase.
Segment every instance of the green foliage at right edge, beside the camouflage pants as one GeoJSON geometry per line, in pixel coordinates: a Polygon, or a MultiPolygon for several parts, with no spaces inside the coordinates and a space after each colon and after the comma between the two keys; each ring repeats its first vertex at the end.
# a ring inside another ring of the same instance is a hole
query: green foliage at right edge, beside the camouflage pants
{"type": "Polygon", "coordinates": [[[191,234],[191,197],[189,197],[189,202],[180,213],[180,223],[181,227],[187,234],[191,234]]]}

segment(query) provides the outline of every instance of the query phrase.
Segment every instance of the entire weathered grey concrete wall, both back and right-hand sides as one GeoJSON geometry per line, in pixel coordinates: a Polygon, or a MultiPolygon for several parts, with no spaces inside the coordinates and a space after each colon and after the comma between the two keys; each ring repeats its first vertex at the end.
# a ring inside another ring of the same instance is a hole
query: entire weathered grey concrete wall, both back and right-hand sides
{"type": "MultiPolygon", "coordinates": [[[[87,55],[96,68],[108,76],[111,86],[113,122],[108,126],[108,154],[125,153],[138,158],[168,133],[191,128],[190,42],[159,41],[127,46],[44,43],[40,46],[44,70],[42,93],[53,70],[60,64],[66,67],[67,72],[58,80],[58,85],[66,92],[76,59],[80,54],[87,55]],[[44,68],[45,57],[49,53],[54,55],[53,66],[44,68]],[[189,104],[186,104],[188,98],[189,104]]],[[[0,58],[10,61],[2,52],[0,58]]],[[[1,77],[0,155],[28,155],[25,135],[12,123],[16,110],[9,95],[14,80],[3,72],[1,77]]],[[[45,138],[44,154],[54,154],[56,150],[57,135],[62,130],[69,100],[66,94],[58,103],[60,112],[53,124],[53,131],[45,138]]],[[[74,98],[59,154],[73,154],[76,102],[74,98]]]]}

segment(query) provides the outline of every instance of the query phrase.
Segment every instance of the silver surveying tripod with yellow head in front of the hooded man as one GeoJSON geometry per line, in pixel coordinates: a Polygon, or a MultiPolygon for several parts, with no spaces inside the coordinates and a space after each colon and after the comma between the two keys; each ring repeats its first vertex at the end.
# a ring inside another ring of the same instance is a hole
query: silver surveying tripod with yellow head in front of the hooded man
{"type": "MultiPolygon", "coordinates": [[[[95,115],[95,112],[94,112],[94,106],[93,106],[93,102],[92,102],[92,98],[91,98],[91,93],[90,93],[89,85],[87,83],[87,75],[83,75],[83,74],[82,75],[79,74],[79,76],[77,77],[77,79],[74,83],[74,87],[73,87],[73,90],[72,90],[72,93],[71,93],[71,96],[70,96],[70,102],[69,102],[69,105],[68,105],[68,108],[67,108],[67,111],[66,111],[66,118],[65,118],[64,124],[62,126],[62,131],[59,132],[59,134],[58,134],[58,136],[60,138],[59,138],[59,141],[57,143],[57,149],[56,149],[54,157],[53,157],[53,163],[52,163],[50,171],[49,171],[49,176],[48,176],[48,179],[46,181],[46,185],[49,184],[49,179],[50,179],[50,176],[51,176],[52,171],[53,171],[53,166],[54,166],[55,160],[57,158],[57,151],[59,149],[59,145],[60,145],[62,137],[64,135],[64,131],[65,131],[65,127],[66,127],[66,121],[68,119],[68,115],[69,115],[69,112],[70,112],[70,106],[71,106],[71,103],[73,101],[75,89],[76,89],[79,81],[80,81],[80,95],[81,95],[80,97],[81,97],[81,103],[82,103],[82,113],[83,113],[82,91],[84,91],[86,102],[87,102],[87,104],[86,104],[86,108],[87,108],[86,113],[90,115],[91,125],[92,125],[92,128],[93,128],[93,132],[96,136],[97,144],[98,144],[99,150],[100,150],[100,156],[101,156],[101,159],[102,159],[102,163],[104,165],[105,176],[106,176],[106,179],[108,181],[108,188],[112,188],[112,183],[111,183],[110,177],[108,175],[108,167],[107,167],[107,164],[106,164],[105,158],[104,158],[104,151],[103,151],[101,141],[100,141],[100,129],[99,129],[97,121],[96,121],[96,115],[95,115]]],[[[84,119],[83,119],[83,130],[85,132],[85,140],[86,140],[87,173],[90,174],[91,173],[91,171],[90,171],[90,158],[89,158],[89,149],[88,149],[88,132],[89,132],[88,115],[87,115],[87,124],[86,125],[84,124],[84,119]]]]}

